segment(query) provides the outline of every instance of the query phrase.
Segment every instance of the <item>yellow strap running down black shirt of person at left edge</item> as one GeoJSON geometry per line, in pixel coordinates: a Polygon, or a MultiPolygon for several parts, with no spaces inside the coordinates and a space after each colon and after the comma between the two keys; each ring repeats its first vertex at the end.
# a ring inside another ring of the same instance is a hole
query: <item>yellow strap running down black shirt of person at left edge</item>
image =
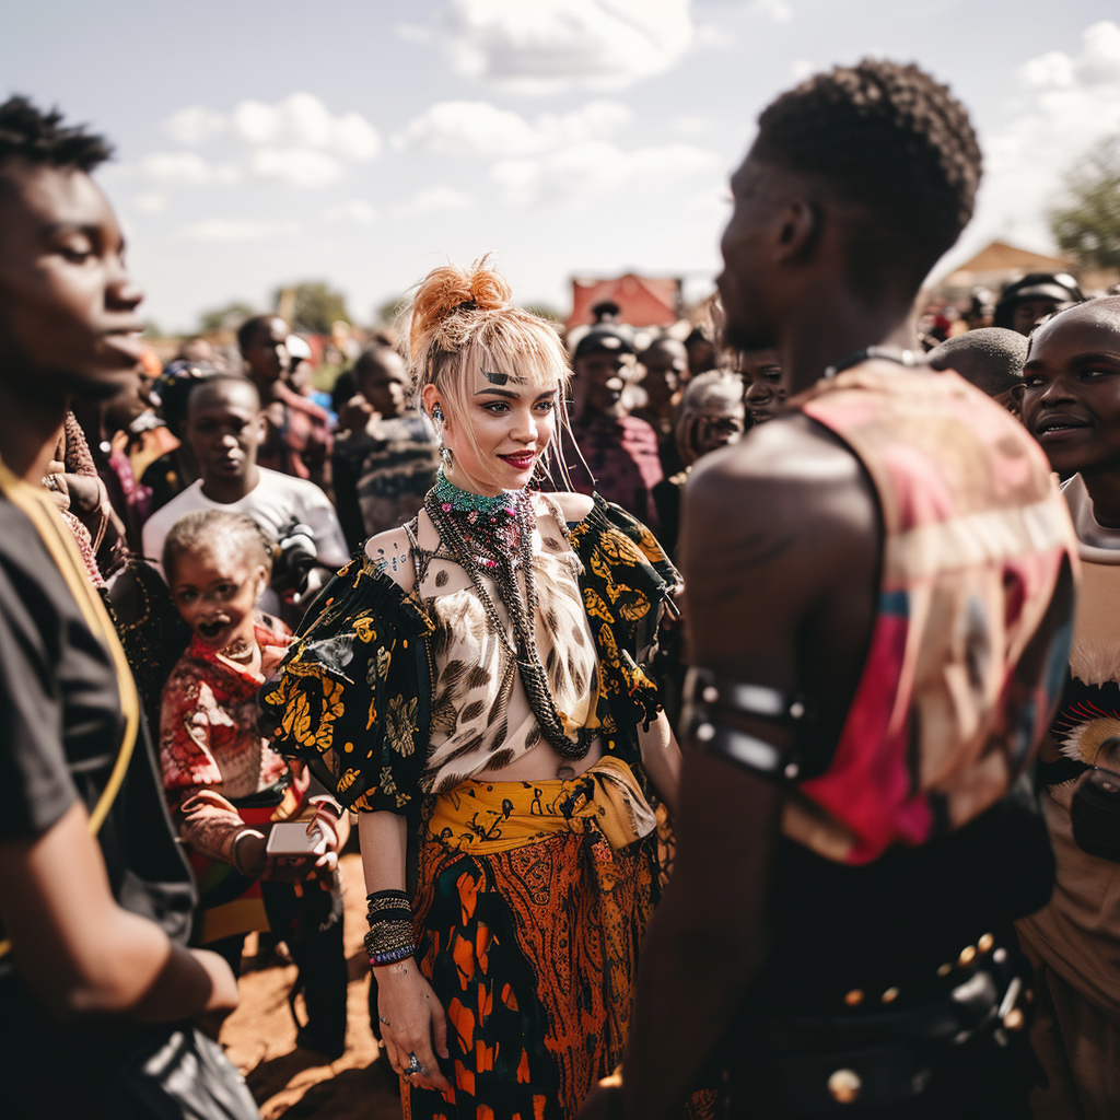
{"type": "MultiPolygon", "coordinates": [[[[0,460],[0,493],[12,505],[22,511],[35,526],[35,531],[41,538],[63,579],[66,580],[66,586],[69,588],[71,595],[74,596],[86,625],[96,637],[101,638],[113,661],[116,687],[120,691],[121,711],[124,715],[124,735],[109,782],[90,814],[90,836],[95,837],[101,831],[101,825],[105,823],[105,818],[109,815],[109,810],[115,801],[116,794],[120,793],[124,774],[132,759],[137,732],[140,728],[140,697],[137,692],[136,681],[132,679],[132,670],[124,656],[124,648],[121,646],[116,631],[109,618],[109,612],[105,610],[101,596],[97,595],[96,588],[90,580],[85,561],[77,550],[69,528],[58,515],[58,511],[47,492],[18,478],[0,460]]],[[[10,950],[10,941],[0,942],[0,956],[10,950]]]]}

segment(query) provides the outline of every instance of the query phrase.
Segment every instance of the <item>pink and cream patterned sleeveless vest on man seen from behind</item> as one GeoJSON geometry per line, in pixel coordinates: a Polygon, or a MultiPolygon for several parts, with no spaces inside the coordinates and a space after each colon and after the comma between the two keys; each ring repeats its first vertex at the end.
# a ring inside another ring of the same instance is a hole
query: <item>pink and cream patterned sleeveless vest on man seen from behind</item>
{"type": "Polygon", "coordinates": [[[884,553],[839,743],[783,827],[866,864],[965,824],[1033,759],[1064,680],[1077,542],[1038,445],[951,371],[869,361],[794,403],[867,469],[884,553]]]}

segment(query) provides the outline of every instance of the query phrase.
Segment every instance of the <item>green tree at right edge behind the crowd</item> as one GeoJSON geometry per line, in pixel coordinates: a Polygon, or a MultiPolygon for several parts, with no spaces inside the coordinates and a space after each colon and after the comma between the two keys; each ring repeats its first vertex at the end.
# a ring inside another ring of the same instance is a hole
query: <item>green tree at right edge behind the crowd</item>
{"type": "Polygon", "coordinates": [[[1049,213],[1058,246],[1083,269],[1120,269],[1120,136],[1080,161],[1065,188],[1064,204],[1049,213]]]}

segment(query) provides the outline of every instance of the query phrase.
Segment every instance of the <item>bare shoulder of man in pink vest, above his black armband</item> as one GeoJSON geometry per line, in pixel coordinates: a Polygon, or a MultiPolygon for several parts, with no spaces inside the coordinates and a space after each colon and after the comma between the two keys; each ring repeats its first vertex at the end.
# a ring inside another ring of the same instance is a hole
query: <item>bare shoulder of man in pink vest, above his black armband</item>
{"type": "Polygon", "coordinates": [[[797,687],[797,635],[825,633],[822,617],[847,605],[846,625],[862,640],[880,548],[870,479],[805,417],[772,420],[704,457],[685,488],[678,545],[692,659],[797,687]]]}

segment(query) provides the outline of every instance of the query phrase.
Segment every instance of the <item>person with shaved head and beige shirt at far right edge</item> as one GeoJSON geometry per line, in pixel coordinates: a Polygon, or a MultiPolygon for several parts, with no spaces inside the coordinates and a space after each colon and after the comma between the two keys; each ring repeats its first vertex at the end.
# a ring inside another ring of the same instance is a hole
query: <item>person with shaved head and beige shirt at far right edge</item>
{"type": "Polygon", "coordinates": [[[1070,673],[1039,754],[1054,893],[1016,923],[1037,970],[1033,1040],[1048,1077],[1032,1105],[1037,1118],[1105,1120],[1120,1116],[1120,298],[1037,327],[1024,382],[1023,422],[1073,475],[1063,494],[1082,564],[1070,673]],[[1086,795],[1103,829],[1080,815],[1086,795]],[[1111,846],[1092,842],[1102,833],[1111,846]]]}

